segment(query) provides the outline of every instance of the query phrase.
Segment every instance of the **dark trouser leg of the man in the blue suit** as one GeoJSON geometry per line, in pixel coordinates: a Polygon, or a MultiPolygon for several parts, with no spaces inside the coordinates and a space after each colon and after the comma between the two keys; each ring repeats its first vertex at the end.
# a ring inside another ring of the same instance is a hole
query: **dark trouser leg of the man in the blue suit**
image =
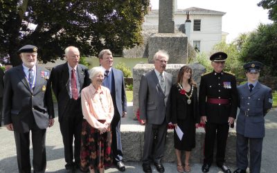
{"type": "Polygon", "coordinates": [[[111,149],[115,163],[122,161],[123,151],[120,136],[120,114],[118,112],[114,114],[114,118],[111,120],[111,149]]]}

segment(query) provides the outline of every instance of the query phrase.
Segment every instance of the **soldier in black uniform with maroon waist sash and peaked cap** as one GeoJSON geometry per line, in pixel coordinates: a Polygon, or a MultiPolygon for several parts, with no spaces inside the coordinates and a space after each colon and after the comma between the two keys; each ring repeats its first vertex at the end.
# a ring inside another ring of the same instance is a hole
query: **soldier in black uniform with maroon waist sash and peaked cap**
{"type": "Polygon", "coordinates": [[[224,158],[229,125],[233,124],[238,109],[238,92],[235,76],[223,71],[226,58],[227,54],[223,52],[211,55],[213,71],[202,75],[199,86],[199,111],[202,122],[206,123],[202,172],[208,172],[213,163],[217,138],[217,166],[223,172],[231,173],[224,165],[224,158]]]}

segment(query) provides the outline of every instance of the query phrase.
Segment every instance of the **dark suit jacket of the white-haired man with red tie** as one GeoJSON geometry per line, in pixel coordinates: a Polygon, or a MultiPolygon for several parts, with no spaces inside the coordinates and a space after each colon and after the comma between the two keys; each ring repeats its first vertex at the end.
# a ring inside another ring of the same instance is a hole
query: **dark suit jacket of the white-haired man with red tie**
{"type": "MultiPolygon", "coordinates": [[[[77,71],[80,80],[80,90],[82,90],[84,87],[89,86],[89,84],[91,83],[89,80],[88,69],[86,66],[78,64],[77,71]]],[[[69,66],[67,62],[53,67],[50,79],[52,83],[53,92],[55,93],[55,97],[57,98],[59,121],[61,121],[64,116],[64,113],[66,113],[66,108],[69,106],[70,100],[69,66]]],[[[81,104],[80,110],[82,110],[81,104]]]]}

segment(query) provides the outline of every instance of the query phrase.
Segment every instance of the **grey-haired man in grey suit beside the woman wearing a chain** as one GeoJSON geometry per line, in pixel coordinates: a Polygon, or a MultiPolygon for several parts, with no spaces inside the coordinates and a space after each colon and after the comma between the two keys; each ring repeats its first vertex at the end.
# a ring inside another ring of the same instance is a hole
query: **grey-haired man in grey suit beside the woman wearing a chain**
{"type": "Polygon", "coordinates": [[[168,110],[172,86],[172,75],[165,71],[168,59],[166,51],[158,51],[154,55],[155,69],[141,76],[139,112],[141,120],[145,122],[142,158],[144,172],[152,172],[152,161],[159,172],[164,172],[161,158],[170,121],[168,110]]]}

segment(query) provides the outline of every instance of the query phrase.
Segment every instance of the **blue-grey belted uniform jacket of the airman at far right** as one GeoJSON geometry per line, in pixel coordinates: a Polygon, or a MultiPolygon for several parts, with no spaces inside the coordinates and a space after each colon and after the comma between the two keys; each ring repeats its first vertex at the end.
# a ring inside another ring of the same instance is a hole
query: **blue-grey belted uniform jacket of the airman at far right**
{"type": "Polygon", "coordinates": [[[267,111],[272,107],[271,89],[258,82],[249,91],[248,84],[238,86],[240,113],[238,113],[236,130],[249,138],[265,137],[265,119],[267,111]]]}

